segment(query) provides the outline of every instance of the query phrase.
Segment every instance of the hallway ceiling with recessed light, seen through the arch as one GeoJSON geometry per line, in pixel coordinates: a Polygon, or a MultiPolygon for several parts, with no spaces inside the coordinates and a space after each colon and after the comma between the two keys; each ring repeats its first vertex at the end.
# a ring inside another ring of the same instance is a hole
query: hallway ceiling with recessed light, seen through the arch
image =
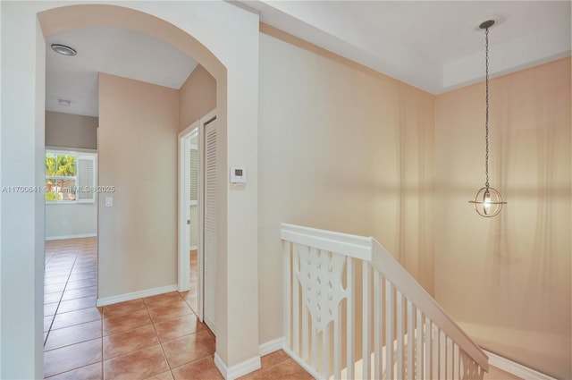
{"type": "Polygon", "coordinates": [[[98,72],[180,89],[197,67],[181,50],[145,33],[112,27],[63,30],[46,38],[46,110],[97,116],[98,72]],[[75,56],[55,53],[63,44],[75,56]],[[59,99],[70,100],[69,106],[59,99]]]}

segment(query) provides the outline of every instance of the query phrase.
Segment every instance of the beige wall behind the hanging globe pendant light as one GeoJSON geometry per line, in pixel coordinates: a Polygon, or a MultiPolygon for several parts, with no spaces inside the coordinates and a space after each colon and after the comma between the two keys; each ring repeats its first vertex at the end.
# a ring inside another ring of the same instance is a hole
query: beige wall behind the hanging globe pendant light
{"type": "Polygon", "coordinates": [[[557,378],[570,370],[570,60],[491,82],[487,219],[484,84],[436,97],[435,294],[479,344],[557,378]]]}

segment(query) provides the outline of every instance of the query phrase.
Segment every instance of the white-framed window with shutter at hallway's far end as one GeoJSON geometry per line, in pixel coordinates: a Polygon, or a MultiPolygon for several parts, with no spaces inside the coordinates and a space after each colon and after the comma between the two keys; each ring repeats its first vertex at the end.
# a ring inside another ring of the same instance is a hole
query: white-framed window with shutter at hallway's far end
{"type": "Polygon", "coordinates": [[[96,156],[46,151],[46,203],[94,203],[96,156]]]}

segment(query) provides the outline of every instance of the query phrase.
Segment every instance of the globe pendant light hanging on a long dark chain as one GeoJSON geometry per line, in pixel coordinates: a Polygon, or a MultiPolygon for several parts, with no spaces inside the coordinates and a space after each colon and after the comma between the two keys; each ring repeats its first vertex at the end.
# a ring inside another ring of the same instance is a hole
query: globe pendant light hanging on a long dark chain
{"type": "Polygon", "coordinates": [[[475,192],[473,200],[469,200],[475,207],[478,215],[484,217],[491,217],[498,215],[501,212],[502,205],[507,202],[502,200],[501,193],[498,190],[489,186],[489,28],[494,25],[494,20],[484,21],[479,25],[480,30],[484,30],[484,50],[485,50],[485,122],[484,122],[484,140],[485,140],[485,155],[484,155],[484,173],[486,180],[484,188],[475,192]]]}

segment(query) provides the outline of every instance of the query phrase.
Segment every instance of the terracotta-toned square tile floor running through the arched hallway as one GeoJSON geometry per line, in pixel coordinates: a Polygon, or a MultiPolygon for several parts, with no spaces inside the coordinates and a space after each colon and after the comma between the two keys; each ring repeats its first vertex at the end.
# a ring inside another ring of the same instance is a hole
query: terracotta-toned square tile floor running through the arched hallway
{"type": "MultiPolygon", "coordinates": [[[[196,267],[196,255],[191,266],[196,267]]],[[[96,238],[46,241],[44,376],[48,379],[222,379],[214,335],[191,291],[96,307],[96,238]]],[[[311,379],[282,350],[249,379],[311,379]]]]}

